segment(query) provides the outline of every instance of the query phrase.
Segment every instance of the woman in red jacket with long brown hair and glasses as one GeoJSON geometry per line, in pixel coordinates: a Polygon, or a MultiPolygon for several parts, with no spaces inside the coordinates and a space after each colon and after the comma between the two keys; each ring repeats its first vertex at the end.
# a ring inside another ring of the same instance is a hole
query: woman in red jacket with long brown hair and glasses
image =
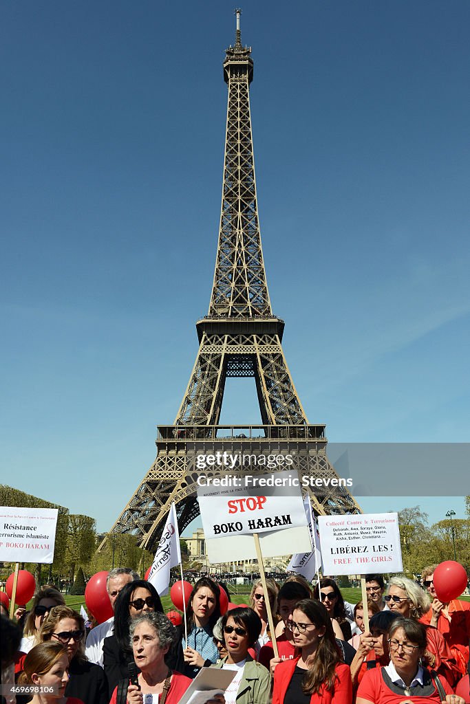
{"type": "Polygon", "coordinates": [[[273,704],[351,704],[350,668],[340,662],[333,626],[323,604],[302,599],[289,626],[301,655],[277,665],[273,704]]]}

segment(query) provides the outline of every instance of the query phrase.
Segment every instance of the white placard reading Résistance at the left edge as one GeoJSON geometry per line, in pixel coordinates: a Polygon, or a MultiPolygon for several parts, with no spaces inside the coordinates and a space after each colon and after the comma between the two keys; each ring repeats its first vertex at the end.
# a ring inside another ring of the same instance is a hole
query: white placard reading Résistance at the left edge
{"type": "Polygon", "coordinates": [[[58,508],[0,506],[0,562],[54,562],[58,508]]]}

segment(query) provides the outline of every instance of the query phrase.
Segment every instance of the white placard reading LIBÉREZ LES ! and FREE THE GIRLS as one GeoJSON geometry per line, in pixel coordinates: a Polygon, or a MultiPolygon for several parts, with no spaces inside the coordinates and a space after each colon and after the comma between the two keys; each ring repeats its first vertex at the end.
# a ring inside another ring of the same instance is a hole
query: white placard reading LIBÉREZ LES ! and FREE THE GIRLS
{"type": "Polygon", "coordinates": [[[402,572],[397,513],[319,516],[323,574],[402,572]]]}

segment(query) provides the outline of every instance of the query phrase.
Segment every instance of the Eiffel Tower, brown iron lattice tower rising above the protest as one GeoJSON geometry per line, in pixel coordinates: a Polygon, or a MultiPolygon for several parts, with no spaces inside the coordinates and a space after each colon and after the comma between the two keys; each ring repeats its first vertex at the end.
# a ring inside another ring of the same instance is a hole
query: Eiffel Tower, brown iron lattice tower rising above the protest
{"type": "MultiPolygon", "coordinates": [[[[158,544],[171,503],[180,532],[199,515],[196,458],[217,451],[286,454],[299,474],[336,478],[326,456],[324,425],[310,425],[285,361],[284,322],[273,315],[258,222],[249,109],[251,47],[242,46],[240,13],[235,45],[225,51],[227,131],[221,224],[209,315],[196,323],[199,351],[173,425],[158,427],[154,464],[111,532],[130,533],[141,548],[158,544]],[[254,377],[262,425],[221,426],[225,379],[254,377]]],[[[252,473],[235,467],[233,474],[252,473]]],[[[204,470],[226,474],[225,467],[204,470]]],[[[360,513],[345,487],[308,489],[314,513],[360,513]]],[[[106,540],[106,539],[105,539],[106,540]]],[[[101,547],[103,546],[101,543],[101,547]]]]}

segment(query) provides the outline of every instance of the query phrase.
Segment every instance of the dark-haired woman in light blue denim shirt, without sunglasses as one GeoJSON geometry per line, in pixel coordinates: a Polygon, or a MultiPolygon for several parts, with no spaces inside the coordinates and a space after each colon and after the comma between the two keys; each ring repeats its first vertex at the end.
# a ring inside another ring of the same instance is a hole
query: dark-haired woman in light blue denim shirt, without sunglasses
{"type": "Polygon", "coordinates": [[[220,594],[218,584],[209,577],[198,579],[191,592],[186,609],[187,642],[180,627],[184,665],[177,669],[192,679],[202,667],[209,667],[218,658],[212,629],[221,617],[220,594]]]}

